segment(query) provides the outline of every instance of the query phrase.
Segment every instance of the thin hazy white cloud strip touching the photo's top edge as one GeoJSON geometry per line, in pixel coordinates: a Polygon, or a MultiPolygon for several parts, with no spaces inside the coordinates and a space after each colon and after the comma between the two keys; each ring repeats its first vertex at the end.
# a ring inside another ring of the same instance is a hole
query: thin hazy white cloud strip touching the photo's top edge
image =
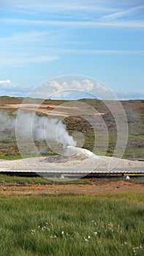
{"type": "Polygon", "coordinates": [[[17,1],[17,0],[1,0],[3,1],[4,6],[12,7],[12,10],[23,10],[25,12],[67,12],[67,11],[104,11],[104,10],[112,10],[110,4],[107,1],[94,1],[94,0],[73,0],[67,3],[67,0],[25,0],[25,1],[17,1]],[[106,6],[105,6],[106,5],[106,6]]]}

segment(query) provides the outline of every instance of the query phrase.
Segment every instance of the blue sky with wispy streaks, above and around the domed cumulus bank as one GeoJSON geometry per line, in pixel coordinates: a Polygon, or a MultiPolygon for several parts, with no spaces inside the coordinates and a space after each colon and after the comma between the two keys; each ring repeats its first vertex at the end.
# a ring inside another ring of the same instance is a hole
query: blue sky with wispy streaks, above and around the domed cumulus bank
{"type": "Polygon", "coordinates": [[[81,75],[144,99],[144,0],[1,0],[0,31],[0,96],[81,75]]]}

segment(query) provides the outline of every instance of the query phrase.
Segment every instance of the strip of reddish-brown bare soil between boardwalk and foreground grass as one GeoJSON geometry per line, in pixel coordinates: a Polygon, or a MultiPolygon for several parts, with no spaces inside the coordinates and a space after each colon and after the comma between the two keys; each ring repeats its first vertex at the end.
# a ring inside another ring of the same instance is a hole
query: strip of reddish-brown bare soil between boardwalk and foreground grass
{"type": "Polygon", "coordinates": [[[109,193],[144,192],[144,182],[134,179],[92,178],[91,184],[15,184],[0,186],[1,195],[58,195],[72,193],[78,195],[105,195],[109,193]]]}

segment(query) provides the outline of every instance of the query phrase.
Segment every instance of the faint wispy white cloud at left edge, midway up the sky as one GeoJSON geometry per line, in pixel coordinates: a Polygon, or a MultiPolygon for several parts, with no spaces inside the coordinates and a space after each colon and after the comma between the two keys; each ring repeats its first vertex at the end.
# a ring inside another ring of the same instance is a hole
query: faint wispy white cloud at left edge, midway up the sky
{"type": "Polygon", "coordinates": [[[45,63],[59,59],[48,46],[58,42],[62,31],[29,31],[0,37],[0,66],[45,63]]]}

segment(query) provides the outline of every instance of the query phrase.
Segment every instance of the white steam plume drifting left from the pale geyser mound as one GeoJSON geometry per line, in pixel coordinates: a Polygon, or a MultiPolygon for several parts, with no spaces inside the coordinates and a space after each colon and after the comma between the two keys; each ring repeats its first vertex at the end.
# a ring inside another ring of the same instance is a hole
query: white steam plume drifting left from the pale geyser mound
{"type": "Polygon", "coordinates": [[[75,141],[67,132],[66,126],[57,118],[37,116],[34,113],[10,113],[0,112],[0,132],[15,135],[15,126],[19,138],[26,140],[56,141],[63,148],[75,146],[75,141]]]}

